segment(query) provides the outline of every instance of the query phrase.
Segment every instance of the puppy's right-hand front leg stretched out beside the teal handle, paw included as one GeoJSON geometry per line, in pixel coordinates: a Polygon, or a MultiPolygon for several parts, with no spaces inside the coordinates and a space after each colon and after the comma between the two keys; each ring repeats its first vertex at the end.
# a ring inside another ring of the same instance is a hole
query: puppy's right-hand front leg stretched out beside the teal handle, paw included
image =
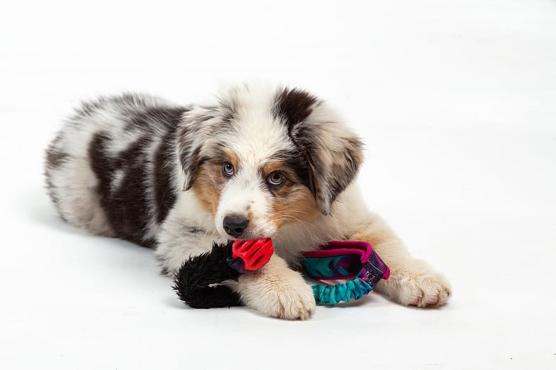
{"type": "Polygon", "coordinates": [[[368,219],[349,239],[369,242],[391,269],[388,280],[381,280],[377,291],[403,305],[443,305],[451,294],[448,280],[425,261],[411,257],[404,243],[377,215],[368,219]]]}

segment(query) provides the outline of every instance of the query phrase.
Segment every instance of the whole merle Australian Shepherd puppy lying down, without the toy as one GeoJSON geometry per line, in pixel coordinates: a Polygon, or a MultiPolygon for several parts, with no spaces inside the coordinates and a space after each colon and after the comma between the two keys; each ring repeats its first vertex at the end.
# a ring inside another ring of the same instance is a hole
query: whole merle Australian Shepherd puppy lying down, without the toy
{"type": "Polygon", "coordinates": [[[47,149],[60,216],[90,233],[152,246],[163,274],[213,242],[272,237],[275,254],[234,289],[272,317],[308,319],[300,253],[364,240],[391,268],[377,290],[403,305],[442,305],[450,285],[416,260],[363,203],[361,138],[303,90],[246,84],[179,106],[124,94],[83,103],[47,149]]]}

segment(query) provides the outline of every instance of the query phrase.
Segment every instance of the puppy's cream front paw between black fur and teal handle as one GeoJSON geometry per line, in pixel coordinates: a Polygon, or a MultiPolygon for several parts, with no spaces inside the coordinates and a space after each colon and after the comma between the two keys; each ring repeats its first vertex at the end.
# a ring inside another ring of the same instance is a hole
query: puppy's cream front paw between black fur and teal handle
{"type": "Polygon", "coordinates": [[[311,287],[276,254],[261,269],[240,276],[232,288],[248,308],[270,317],[306,320],[316,306],[311,287]]]}

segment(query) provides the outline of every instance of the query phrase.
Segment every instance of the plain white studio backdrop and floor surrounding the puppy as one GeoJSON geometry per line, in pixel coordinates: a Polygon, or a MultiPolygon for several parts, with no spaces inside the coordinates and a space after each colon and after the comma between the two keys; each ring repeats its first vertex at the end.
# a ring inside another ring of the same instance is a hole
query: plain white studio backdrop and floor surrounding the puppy
{"type": "Polygon", "coordinates": [[[0,368],[555,369],[555,66],[548,0],[3,3],[0,368]],[[244,78],[343,112],[366,201],[448,305],[193,310],[151,250],[56,216],[43,151],[79,100],[244,78]]]}

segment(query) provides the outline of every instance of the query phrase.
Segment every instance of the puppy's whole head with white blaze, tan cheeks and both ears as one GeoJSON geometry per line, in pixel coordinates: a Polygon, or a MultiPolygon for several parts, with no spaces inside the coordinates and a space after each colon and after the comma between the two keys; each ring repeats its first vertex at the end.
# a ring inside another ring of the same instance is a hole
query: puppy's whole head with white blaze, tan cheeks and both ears
{"type": "Polygon", "coordinates": [[[329,215],[363,160],[361,140],[325,101],[286,87],[242,85],[193,107],[177,143],[184,190],[232,239],[329,215]]]}

